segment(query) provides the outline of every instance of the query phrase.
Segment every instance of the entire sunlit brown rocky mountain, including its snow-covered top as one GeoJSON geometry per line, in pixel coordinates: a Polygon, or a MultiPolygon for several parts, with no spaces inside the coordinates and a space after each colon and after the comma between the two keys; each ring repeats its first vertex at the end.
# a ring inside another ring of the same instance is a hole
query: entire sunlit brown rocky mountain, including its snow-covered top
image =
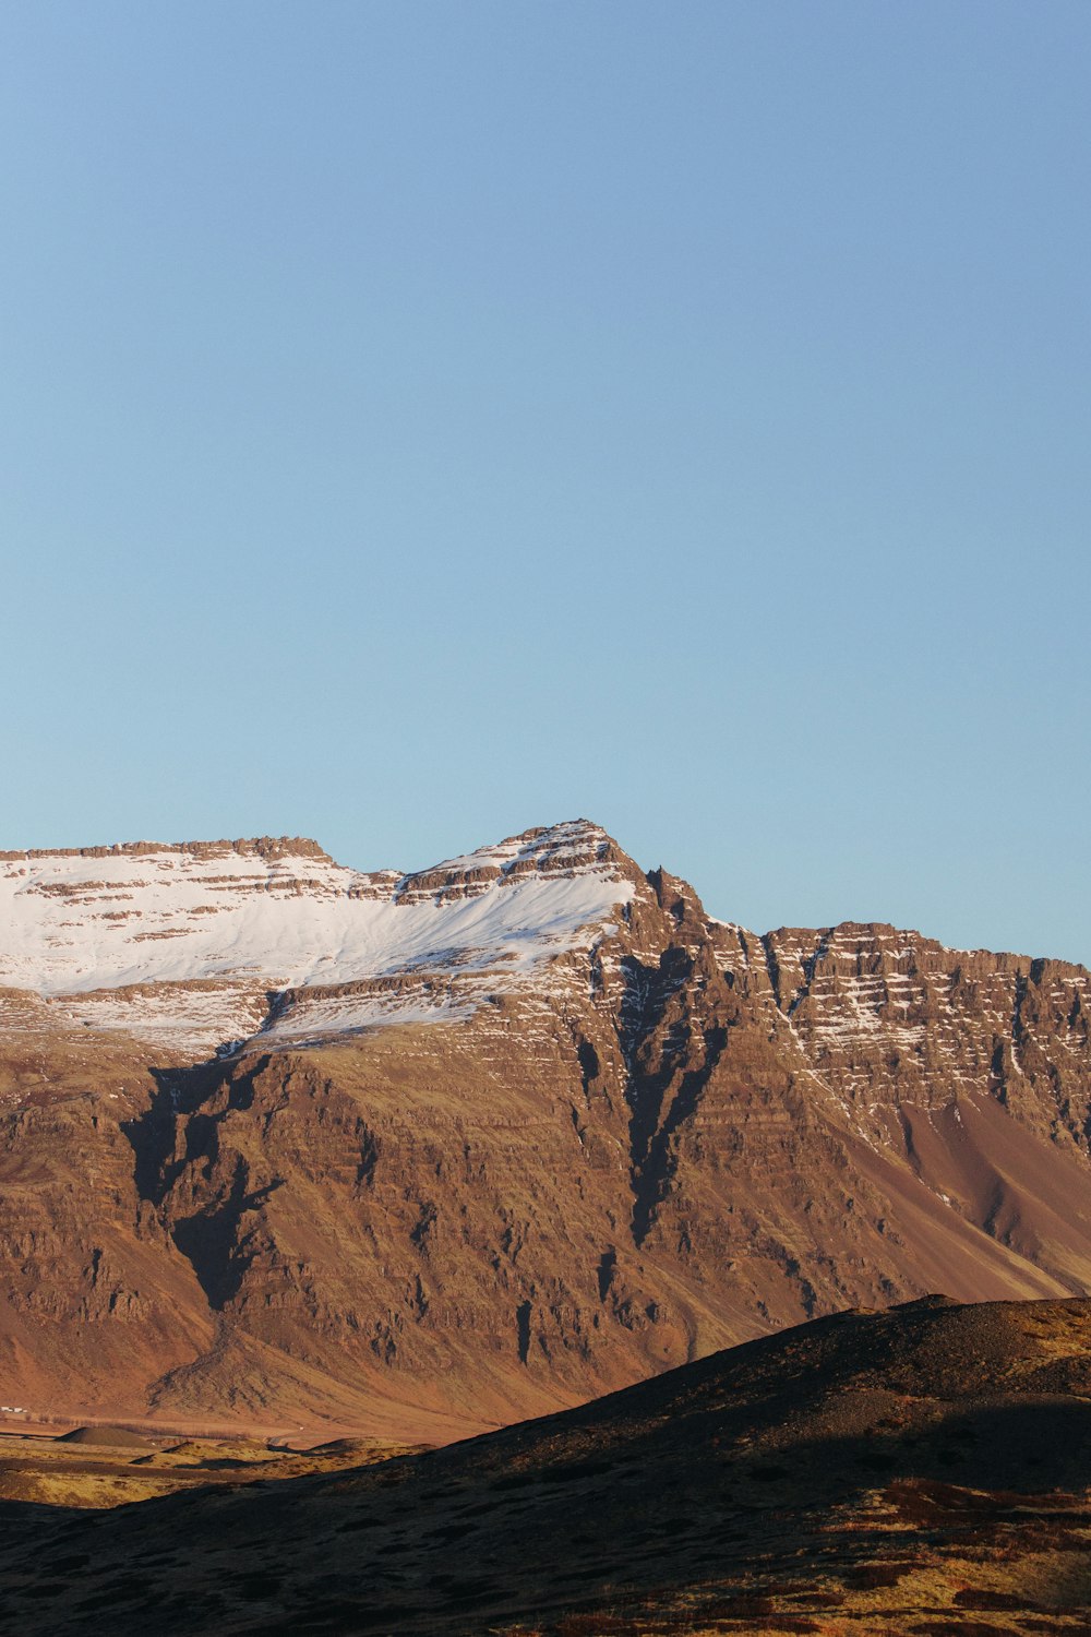
{"type": "Polygon", "coordinates": [[[595,825],[0,859],[0,1385],[445,1439],[1091,1285],[1091,977],[715,922],[595,825]]]}

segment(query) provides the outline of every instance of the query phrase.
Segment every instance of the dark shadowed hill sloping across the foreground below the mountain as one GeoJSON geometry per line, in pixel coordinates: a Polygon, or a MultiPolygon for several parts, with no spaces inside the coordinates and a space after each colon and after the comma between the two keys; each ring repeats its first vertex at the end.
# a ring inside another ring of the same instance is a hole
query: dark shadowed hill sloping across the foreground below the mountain
{"type": "Polygon", "coordinates": [[[357,1472],[5,1508],[3,1630],[1091,1632],[1091,1301],[852,1311],[357,1472]]]}

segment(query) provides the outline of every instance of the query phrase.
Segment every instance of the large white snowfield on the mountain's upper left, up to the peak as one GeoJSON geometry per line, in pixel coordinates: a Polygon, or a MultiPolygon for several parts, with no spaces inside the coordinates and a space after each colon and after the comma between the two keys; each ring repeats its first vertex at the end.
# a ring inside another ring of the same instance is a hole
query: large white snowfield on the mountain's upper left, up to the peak
{"type": "Polygon", "coordinates": [[[608,923],[635,884],[607,848],[576,820],[411,876],[291,843],[5,856],[0,987],[178,1046],[453,1021],[608,923]],[[270,1013],[285,990],[326,994],[270,1013]]]}

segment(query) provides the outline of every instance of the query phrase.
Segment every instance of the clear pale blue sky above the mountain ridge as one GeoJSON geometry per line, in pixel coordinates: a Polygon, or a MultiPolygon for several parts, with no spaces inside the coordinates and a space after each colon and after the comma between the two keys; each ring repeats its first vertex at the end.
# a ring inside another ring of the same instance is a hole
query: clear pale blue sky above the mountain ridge
{"type": "Polygon", "coordinates": [[[11,0],[0,845],[1091,961],[1086,0],[11,0]]]}

